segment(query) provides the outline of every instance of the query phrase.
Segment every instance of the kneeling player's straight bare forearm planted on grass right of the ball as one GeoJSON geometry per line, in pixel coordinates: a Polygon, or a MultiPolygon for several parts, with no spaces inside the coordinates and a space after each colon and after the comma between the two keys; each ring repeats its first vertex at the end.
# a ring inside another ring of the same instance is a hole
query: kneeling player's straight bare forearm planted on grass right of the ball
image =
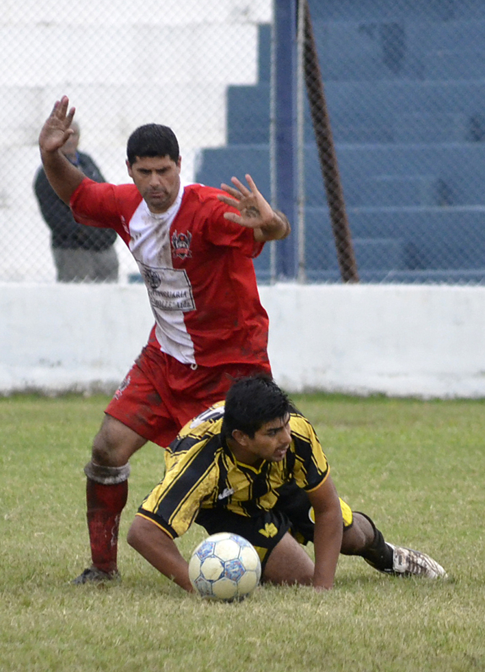
{"type": "Polygon", "coordinates": [[[335,570],[342,545],[342,516],[340,510],[330,510],[324,514],[315,512],[315,572],[313,587],[330,590],[335,579],[335,570]]]}

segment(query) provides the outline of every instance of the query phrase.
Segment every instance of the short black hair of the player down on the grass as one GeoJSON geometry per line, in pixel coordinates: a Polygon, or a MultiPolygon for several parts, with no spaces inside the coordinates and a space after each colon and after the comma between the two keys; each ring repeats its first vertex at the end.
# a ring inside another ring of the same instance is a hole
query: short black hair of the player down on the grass
{"type": "Polygon", "coordinates": [[[270,376],[240,378],[227,393],[221,434],[227,438],[234,430],[241,430],[253,438],[265,423],[286,418],[293,410],[287,395],[270,376]]]}

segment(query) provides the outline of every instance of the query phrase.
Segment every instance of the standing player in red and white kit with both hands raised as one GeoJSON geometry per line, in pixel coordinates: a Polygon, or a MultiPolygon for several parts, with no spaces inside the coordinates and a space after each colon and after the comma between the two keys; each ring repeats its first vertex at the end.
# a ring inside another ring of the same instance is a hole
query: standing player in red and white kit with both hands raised
{"type": "Polygon", "coordinates": [[[134,184],[93,182],[61,151],[74,114],[64,96],[44,123],[44,171],[79,223],[112,228],[126,242],[155,316],[84,469],[92,565],[74,580],[82,584],[119,577],[118,527],[133,453],[148,440],[168,446],[189,419],[224,398],[236,377],[270,373],[267,314],[252,258],[267,240],[286,238],[290,225],[250,175],[249,188],[235,177],[222,190],[183,186],[176,137],[157,124],[137,128],[128,140],[134,184]]]}

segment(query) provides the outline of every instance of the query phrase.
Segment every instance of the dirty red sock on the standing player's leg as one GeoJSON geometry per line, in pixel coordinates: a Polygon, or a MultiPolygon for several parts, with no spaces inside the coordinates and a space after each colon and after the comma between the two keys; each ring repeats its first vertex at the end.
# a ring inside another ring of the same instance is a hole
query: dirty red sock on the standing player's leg
{"type": "Polygon", "coordinates": [[[92,564],[105,572],[117,569],[118,530],[127,499],[127,480],[116,485],[104,485],[88,478],[86,501],[92,564]]]}

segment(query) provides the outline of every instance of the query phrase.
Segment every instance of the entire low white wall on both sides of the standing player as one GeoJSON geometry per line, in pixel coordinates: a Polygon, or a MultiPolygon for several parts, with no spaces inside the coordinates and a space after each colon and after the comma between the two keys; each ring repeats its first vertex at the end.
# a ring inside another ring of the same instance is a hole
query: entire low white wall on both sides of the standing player
{"type": "MultiPolygon", "coordinates": [[[[291,392],[485,397],[485,288],[260,288],[291,392]]],[[[144,286],[0,284],[0,393],[112,390],[152,325],[144,286]]]]}

